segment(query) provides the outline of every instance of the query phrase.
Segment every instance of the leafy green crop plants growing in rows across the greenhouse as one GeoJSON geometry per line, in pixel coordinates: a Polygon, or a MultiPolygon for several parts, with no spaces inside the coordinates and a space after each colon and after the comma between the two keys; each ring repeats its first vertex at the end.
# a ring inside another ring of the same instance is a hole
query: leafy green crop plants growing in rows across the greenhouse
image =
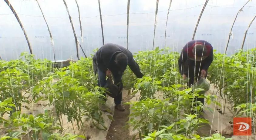
{"type": "MultiPolygon", "coordinates": [[[[197,93],[202,89],[183,86],[186,81],[181,80],[177,71],[179,55],[158,48],[135,54],[134,58],[145,76],[138,79],[131,75],[129,68],[123,76],[124,88],[131,94],[140,93],[139,101],[127,103],[133,110],[130,114],[133,119],[127,126],[138,130],[141,139],[148,140],[225,139],[220,134],[211,137],[197,135],[200,124],[209,122],[198,118],[204,106],[194,98],[200,96],[206,98],[206,103],[215,103],[217,96],[199,95],[197,93]],[[161,92],[164,100],[154,96],[157,92],[161,92]],[[191,114],[194,111],[197,114],[191,114]],[[138,117],[140,119],[136,119],[138,117]]],[[[84,138],[62,134],[62,115],[68,116],[68,122],[72,124],[76,121],[79,128],[84,124],[82,116],[86,116],[98,129],[107,129],[99,111],[99,106],[104,103],[100,97],[105,89],[96,86],[92,59],[70,62],[65,68],[52,68],[51,63],[35,60],[33,55],[26,53],[22,53],[18,60],[0,61],[0,123],[4,124],[5,131],[1,140],[21,139],[28,131],[32,131],[33,139],[39,136],[44,139],[84,138]],[[48,106],[54,106],[55,112],[22,113],[22,107],[29,109],[26,105],[42,100],[48,100],[48,106]],[[56,119],[59,119],[58,123],[56,119]]],[[[234,103],[238,113],[255,115],[255,64],[253,50],[230,57],[214,53],[208,80],[234,103]]]]}

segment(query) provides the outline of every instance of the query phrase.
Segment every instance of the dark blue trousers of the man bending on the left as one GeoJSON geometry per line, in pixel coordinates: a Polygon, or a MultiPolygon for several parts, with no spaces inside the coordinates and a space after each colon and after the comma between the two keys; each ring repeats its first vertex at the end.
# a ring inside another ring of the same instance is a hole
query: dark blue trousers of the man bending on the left
{"type": "MultiPolygon", "coordinates": [[[[106,73],[102,72],[101,70],[97,70],[98,72],[98,86],[99,87],[104,87],[106,84],[106,73]]],[[[118,85],[120,84],[119,87],[119,94],[117,97],[114,98],[114,102],[116,105],[120,104],[122,102],[122,92],[123,92],[123,83],[122,83],[122,75],[118,75],[116,73],[112,73],[113,74],[113,80],[114,80],[114,84],[118,85]]],[[[106,96],[106,94],[103,94],[104,96],[106,96]]],[[[106,101],[106,98],[105,98],[106,101]]]]}

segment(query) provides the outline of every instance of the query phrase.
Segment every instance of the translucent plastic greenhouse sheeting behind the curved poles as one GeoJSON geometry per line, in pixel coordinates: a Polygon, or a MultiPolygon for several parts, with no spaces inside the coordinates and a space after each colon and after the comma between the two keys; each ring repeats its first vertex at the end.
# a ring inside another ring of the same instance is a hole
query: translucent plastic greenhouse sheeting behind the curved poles
{"type": "MultiPolygon", "coordinates": [[[[77,59],[76,44],[68,14],[62,0],[38,0],[52,32],[56,60],[77,59]]],[[[54,60],[51,40],[42,13],[35,0],[9,0],[28,34],[36,58],[54,60]]],[[[77,0],[80,8],[83,40],[81,40],[78,9],[74,0],[66,0],[78,40],[87,56],[102,46],[98,0],[77,0]]],[[[170,0],[160,0],[154,46],[164,47],[165,24],[170,0]]],[[[126,47],[127,0],[101,0],[105,43],[126,47]]],[[[205,0],[173,0],[167,23],[166,46],[180,52],[194,33],[205,0]]],[[[217,52],[224,53],[228,35],[242,0],[210,0],[201,17],[195,40],[209,41],[217,52]]],[[[129,20],[129,50],[151,50],[153,47],[156,0],[131,0],[129,20]]],[[[256,14],[256,2],[249,2],[238,14],[227,55],[241,48],[244,32],[256,14]]],[[[256,23],[246,37],[244,49],[255,47],[256,23]]],[[[21,52],[29,52],[22,29],[9,6],[0,1],[0,56],[4,60],[17,59],[21,52]]],[[[79,56],[83,52],[79,49],[79,56]]]]}

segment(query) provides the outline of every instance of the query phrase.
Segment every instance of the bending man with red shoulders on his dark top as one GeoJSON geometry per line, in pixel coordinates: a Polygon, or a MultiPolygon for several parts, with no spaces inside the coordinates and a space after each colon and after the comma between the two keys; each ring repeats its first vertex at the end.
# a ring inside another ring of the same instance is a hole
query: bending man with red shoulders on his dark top
{"type": "MultiPolygon", "coordinates": [[[[189,77],[187,86],[206,78],[207,70],[213,61],[213,47],[205,40],[189,41],[183,48],[178,60],[179,70],[183,78],[189,77]],[[199,77],[200,75],[200,77],[199,77]]],[[[204,104],[204,98],[198,98],[204,104]]]]}

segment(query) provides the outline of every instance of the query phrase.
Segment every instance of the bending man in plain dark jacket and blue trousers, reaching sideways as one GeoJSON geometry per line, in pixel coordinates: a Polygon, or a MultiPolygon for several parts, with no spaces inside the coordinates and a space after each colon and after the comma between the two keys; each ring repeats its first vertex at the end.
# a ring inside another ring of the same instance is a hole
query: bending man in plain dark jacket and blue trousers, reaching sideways
{"type": "MultiPolygon", "coordinates": [[[[122,46],[112,43],[105,44],[93,56],[93,71],[95,75],[98,72],[98,86],[104,87],[106,76],[110,77],[111,75],[113,76],[114,84],[119,86],[120,94],[114,98],[114,102],[116,109],[120,111],[125,110],[121,105],[123,91],[122,76],[127,65],[137,78],[143,77],[139,65],[133,59],[133,54],[122,46]]],[[[104,111],[104,107],[101,110],[104,111]]]]}

